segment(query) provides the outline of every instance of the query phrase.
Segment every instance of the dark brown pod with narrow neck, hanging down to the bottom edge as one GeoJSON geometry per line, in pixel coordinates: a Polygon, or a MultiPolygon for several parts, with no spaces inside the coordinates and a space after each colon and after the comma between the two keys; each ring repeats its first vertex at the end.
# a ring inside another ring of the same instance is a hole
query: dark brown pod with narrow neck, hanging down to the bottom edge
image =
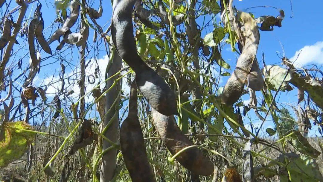
{"type": "Polygon", "coordinates": [[[138,120],[137,87],[130,87],[129,114],[120,127],[120,146],[124,162],[133,182],[154,182],[155,175],[148,163],[145,142],[138,120]]]}

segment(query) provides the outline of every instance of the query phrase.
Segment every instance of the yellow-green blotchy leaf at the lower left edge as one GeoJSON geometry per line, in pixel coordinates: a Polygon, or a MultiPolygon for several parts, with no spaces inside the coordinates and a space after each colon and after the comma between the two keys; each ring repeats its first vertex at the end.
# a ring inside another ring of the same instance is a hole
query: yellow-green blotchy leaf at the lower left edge
{"type": "Polygon", "coordinates": [[[0,142],[0,167],[19,159],[35,139],[35,133],[17,130],[32,130],[32,127],[23,121],[4,122],[3,127],[5,140],[0,142]]]}

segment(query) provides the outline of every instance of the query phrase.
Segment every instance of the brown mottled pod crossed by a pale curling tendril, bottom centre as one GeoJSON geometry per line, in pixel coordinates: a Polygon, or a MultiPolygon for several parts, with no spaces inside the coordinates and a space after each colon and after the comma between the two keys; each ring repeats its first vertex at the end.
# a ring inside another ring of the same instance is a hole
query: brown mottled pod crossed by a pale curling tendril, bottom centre
{"type": "MultiPolygon", "coordinates": [[[[153,108],[151,109],[151,114],[157,133],[172,155],[185,147],[194,145],[182,134],[175,123],[174,116],[162,115],[153,108]]],[[[196,147],[184,150],[176,157],[176,160],[196,175],[207,176],[213,174],[214,164],[196,147]]]]}

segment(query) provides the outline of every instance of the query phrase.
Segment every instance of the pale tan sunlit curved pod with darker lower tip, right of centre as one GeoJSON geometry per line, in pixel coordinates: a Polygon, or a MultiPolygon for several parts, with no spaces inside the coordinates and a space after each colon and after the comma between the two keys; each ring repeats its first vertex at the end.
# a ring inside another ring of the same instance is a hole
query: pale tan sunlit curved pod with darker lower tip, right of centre
{"type": "Polygon", "coordinates": [[[248,13],[241,13],[241,19],[245,25],[243,36],[245,42],[242,53],[238,58],[233,74],[228,79],[222,92],[222,102],[227,105],[234,104],[242,94],[247,76],[251,70],[259,44],[259,30],[254,18],[248,13]]]}

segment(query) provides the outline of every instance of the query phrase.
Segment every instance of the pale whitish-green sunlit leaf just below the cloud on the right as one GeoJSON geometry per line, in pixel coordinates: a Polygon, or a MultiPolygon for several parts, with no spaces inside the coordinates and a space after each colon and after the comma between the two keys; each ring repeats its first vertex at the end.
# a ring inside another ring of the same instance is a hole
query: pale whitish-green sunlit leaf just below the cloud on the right
{"type": "Polygon", "coordinates": [[[263,69],[263,72],[269,88],[274,91],[278,90],[280,84],[282,84],[280,90],[285,91],[289,86],[287,82],[292,79],[290,73],[287,74],[287,69],[281,68],[278,65],[268,65],[263,69]],[[285,76],[286,79],[284,80],[285,76]]]}

